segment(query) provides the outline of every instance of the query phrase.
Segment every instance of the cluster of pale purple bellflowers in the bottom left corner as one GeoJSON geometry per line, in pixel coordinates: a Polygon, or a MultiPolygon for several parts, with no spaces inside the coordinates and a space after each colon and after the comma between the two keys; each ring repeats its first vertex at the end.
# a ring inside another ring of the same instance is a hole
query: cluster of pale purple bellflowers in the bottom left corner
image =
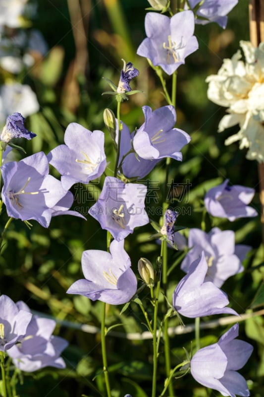
{"type": "Polygon", "coordinates": [[[53,336],[55,321],[32,315],[24,302],[0,296],[0,350],[22,371],[52,366],[65,368],[60,357],[68,342],[53,336]]]}

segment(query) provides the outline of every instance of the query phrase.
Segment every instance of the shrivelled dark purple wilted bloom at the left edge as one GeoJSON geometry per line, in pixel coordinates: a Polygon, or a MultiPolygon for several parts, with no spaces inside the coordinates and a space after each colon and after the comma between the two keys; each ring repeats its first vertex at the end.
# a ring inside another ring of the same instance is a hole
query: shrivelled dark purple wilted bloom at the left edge
{"type": "Polygon", "coordinates": [[[0,135],[0,140],[8,143],[13,138],[34,138],[36,134],[25,128],[24,121],[25,119],[20,113],[13,113],[11,116],[7,116],[6,124],[0,135]]]}

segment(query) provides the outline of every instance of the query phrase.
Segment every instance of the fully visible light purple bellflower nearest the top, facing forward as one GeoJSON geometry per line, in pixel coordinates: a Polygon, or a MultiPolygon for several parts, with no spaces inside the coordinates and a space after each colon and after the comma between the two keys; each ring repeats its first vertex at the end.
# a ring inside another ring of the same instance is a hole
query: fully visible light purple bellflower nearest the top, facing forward
{"type": "Polygon", "coordinates": [[[194,33],[194,14],[191,10],[178,12],[171,18],[157,12],[148,12],[145,18],[147,38],[137,54],[172,74],[185,58],[198,49],[194,33]]]}

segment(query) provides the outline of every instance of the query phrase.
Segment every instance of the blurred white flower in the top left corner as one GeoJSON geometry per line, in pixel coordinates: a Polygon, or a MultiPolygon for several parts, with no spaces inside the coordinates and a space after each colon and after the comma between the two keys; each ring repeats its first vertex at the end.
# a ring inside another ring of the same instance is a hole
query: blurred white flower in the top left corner
{"type": "Polygon", "coordinates": [[[23,14],[28,0],[0,0],[0,25],[19,28],[23,25],[23,14]]]}

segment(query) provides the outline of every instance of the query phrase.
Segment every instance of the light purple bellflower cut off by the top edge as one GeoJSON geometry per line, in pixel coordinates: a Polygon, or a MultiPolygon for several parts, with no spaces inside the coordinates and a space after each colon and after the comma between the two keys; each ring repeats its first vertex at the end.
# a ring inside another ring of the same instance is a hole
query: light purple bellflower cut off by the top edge
{"type": "MultiPolygon", "coordinates": [[[[194,9],[201,0],[188,0],[191,9],[194,9]]],[[[194,10],[197,15],[195,23],[206,25],[216,22],[223,29],[226,27],[228,12],[238,3],[238,0],[204,0],[202,4],[194,10]],[[201,19],[199,18],[201,17],[201,19]]]]}

